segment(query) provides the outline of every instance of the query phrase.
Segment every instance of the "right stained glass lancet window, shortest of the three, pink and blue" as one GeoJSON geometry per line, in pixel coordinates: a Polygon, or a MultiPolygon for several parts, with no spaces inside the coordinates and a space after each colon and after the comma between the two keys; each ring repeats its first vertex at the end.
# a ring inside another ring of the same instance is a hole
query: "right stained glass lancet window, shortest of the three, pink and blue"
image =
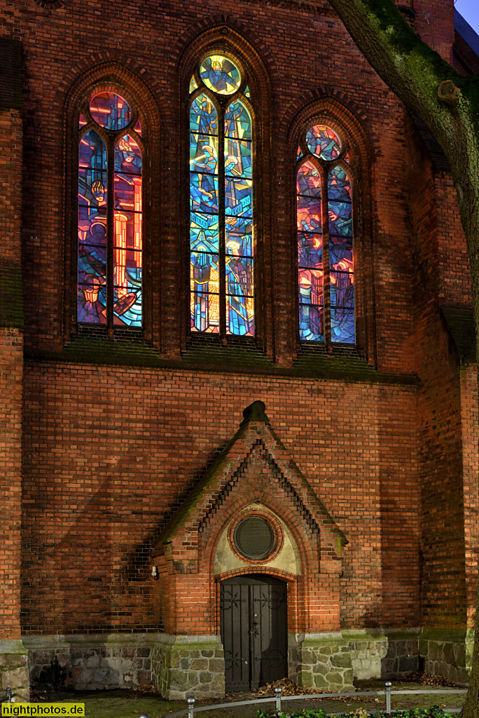
{"type": "Polygon", "coordinates": [[[341,137],[310,127],[296,174],[300,339],[354,344],[351,168],[341,137]]]}

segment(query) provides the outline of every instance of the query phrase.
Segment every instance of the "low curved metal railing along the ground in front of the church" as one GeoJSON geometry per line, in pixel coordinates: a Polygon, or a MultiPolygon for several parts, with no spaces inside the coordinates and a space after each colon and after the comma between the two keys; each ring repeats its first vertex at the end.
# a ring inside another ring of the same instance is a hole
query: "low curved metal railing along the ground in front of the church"
{"type": "MultiPolygon", "coordinates": [[[[262,703],[275,703],[275,710],[278,712],[278,714],[282,713],[281,710],[281,701],[307,701],[309,699],[316,699],[316,698],[357,698],[358,696],[382,696],[384,695],[384,702],[386,704],[385,713],[391,714],[391,696],[413,696],[416,694],[437,694],[437,693],[461,693],[465,694],[468,691],[466,689],[418,689],[417,691],[392,691],[391,690],[392,684],[390,681],[386,681],[384,684],[384,691],[356,691],[356,693],[315,693],[315,694],[302,694],[300,696],[282,696],[281,695],[281,689],[280,686],[277,686],[275,688],[275,696],[272,698],[256,698],[252,701],[230,701],[229,703],[219,703],[212,706],[201,706],[201,708],[196,708],[196,712],[200,711],[214,711],[217,708],[231,708],[231,707],[237,707],[237,706],[250,706],[253,704],[262,704],[262,703]]],[[[186,711],[179,711],[178,713],[170,713],[168,718],[177,718],[179,716],[184,716],[188,714],[188,718],[194,718],[195,713],[195,707],[194,707],[194,698],[190,697],[186,699],[186,704],[188,708],[186,711]]],[[[143,716],[140,716],[140,718],[148,718],[146,714],[143,716]]]]}

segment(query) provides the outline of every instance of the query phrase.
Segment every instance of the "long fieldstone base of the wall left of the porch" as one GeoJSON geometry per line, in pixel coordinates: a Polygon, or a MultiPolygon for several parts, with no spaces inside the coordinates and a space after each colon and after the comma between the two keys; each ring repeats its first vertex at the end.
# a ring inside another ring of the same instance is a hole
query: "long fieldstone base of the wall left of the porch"
{"type": "Polygon", "coordinates": [[[25,636],[32,686],[77,691],[151,683],[156,633],[25,636]]]}

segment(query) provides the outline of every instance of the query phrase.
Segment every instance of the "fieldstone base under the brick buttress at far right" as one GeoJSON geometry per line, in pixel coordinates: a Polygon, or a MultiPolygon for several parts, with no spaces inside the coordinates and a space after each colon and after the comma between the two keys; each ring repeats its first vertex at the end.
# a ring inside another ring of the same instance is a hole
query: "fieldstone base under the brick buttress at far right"
{"type": "Polygon", "coordinates": [[[473,663],[474,631],[423,628],[419,634],[419,653],[426,673],[445,676],[452,683],[467,686],[473,663]]]}

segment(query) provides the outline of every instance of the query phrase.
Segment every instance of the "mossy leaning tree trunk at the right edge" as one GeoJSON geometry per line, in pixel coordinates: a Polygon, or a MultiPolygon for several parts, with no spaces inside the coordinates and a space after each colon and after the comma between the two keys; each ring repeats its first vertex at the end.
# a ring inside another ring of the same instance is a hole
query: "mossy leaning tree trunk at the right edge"
{"type": "MultiPolygon", "coordinates": [[[[479,73],[460,75],[422,42],[393,0],[329,1],[359,50],[430,128],[450,162],[468,243],[479,359],[479,73]]],[[[460,718],[479,718],[479,630],[460,718]]]]}

